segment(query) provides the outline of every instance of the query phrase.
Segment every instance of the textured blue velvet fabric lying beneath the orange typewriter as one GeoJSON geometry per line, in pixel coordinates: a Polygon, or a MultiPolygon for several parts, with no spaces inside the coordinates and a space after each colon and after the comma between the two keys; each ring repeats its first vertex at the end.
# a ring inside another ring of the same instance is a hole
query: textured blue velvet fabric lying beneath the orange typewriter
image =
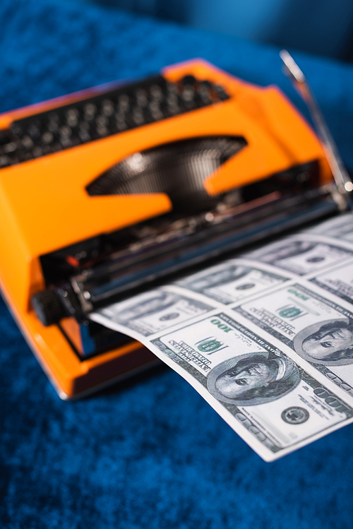
{"type": "MultiPolygon", "coordinates": [[[[0,109],[205,57],[277,83],[277,49],[55,0],[2,0],[0,109]]],[[[353,168],[353,70],[298,54],[353,168]]],[[[298,102],[297,97],[294,97],[298,102]]],[[[6,529],[351,529],[353,427],[264,463],[174,372],[64,403],[0,302],[6,529]]]]}

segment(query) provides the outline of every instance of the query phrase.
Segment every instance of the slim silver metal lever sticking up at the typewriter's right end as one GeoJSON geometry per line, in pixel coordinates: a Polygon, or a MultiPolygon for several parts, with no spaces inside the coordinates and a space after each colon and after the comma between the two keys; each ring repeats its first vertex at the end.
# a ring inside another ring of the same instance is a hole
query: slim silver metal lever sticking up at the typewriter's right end
{"type": "Polygon", "coordinates": [[[292,55],[290,55],[286,49],[282,49],[280,52],[280,58],[284,64],[283,71],[285,75],[292,82],[294,88],[297,90],[309,109],[311,119],[313,119],[313,124],[316,127],[316,132],[318,133],[321,143],[323,144],[323,150],[327,157],[328,165],[330,165],[333,178],[335,179],[337,190],[347,199],[349,192],[353,191],[352,180],[350,179],[345,165],[342,162],[337,145],[331,136],[330,129],[328,129],[328,125],[326,124],[325,118],[318,107],[318,103],[316,102],[313,92],[311,91],[310,85],[307,83],[304,73],[301,71],[297,63],[294,61],[292,55]]]}

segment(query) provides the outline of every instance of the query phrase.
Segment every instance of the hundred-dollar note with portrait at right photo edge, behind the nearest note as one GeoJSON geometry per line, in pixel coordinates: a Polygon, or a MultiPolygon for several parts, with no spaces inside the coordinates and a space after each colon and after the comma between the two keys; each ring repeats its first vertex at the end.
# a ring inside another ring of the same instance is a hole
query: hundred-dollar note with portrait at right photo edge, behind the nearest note
{"type": "Polygon", "coordinates": [[[353,397],[353,313],[294,283],[233,309],[353,397]]]}

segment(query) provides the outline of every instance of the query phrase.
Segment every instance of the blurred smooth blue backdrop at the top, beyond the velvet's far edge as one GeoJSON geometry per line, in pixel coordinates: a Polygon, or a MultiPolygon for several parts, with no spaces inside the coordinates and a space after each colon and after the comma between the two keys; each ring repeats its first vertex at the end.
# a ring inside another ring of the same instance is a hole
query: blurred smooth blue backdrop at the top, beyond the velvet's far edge
{"type": "Polygon", "coordinates": [[[351,0],[71,0],[353,61],[351,0]]]}

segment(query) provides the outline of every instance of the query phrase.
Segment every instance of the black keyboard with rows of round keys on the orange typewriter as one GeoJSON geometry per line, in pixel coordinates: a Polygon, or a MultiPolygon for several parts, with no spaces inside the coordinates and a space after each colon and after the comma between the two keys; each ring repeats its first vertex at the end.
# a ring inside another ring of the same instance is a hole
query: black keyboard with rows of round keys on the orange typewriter
{"type": "Polygon", "coordinates": [[[162,76],[13,121],[0,131],[0,168],[229,99],[220,85],[162,76]]]}

